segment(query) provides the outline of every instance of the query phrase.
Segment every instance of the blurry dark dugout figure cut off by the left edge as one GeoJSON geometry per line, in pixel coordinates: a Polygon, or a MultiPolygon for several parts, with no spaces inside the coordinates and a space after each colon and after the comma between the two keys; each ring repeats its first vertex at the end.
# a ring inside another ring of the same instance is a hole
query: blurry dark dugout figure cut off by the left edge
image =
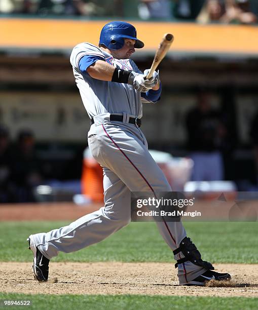
{"type": "Polygon", "coordinates": [[[0,203],[12,201],[11,151],[8,128],[0,125],[0,203]]]}

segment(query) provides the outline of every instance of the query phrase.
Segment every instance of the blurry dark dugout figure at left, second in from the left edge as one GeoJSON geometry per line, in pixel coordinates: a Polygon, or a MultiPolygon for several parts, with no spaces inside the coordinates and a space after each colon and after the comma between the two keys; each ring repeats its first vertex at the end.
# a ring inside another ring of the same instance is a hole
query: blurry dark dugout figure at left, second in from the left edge
{"type": "Polygon", "coordinates": [[[18,202],[33,202],[33,187],[42,181],[41,162],[36,156],[34,144],[34,135],[31,130],[21,130],[18,133],[12,170],[18,202]]]}

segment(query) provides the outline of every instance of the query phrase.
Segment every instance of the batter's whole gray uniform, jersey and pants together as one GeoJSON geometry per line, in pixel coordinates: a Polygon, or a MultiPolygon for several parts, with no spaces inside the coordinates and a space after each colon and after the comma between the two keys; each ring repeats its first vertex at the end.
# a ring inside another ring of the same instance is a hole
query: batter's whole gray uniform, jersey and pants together
{"type": "MultiPolygon", "coordinates": [[[[97,55],[122,69],[139,72],[132,60],[114,59],[99,48],[82,43],[71,53],[71,64],[84,106],[94,124],[88,132],[92,156],[103,168],[104,206],[65,227],[33,236],[36,247],[48,259],[59,251],[73,252],[100,242],[130,222],[131,191],[170,191],[171,187],[150,152],[142,131],[129,117],[141,117],[141,95],[127,84],[99,81],[82,73],[79,60],[97,55]],[[110,121],[110,113],[123,115],[122,122],[110,121]]],[[[175,250],[186,231],[181,222],[157,222],[162,237],[175,250]]],[[[116,249],[114,248],[114,251],[116,249]]],[[[178,253],[175,259],[183,258],[178,253]]],[[[180,284],[188,283],[205,269],[190,261],[178,265],[180,284]]]]}

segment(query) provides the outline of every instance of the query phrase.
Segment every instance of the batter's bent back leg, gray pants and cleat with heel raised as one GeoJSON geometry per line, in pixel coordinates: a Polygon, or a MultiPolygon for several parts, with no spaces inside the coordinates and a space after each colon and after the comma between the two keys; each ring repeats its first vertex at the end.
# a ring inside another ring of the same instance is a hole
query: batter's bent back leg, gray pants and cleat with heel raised
{"type": "Polygon", "coordinates": [[[29,236],[33,270],[39,281],[48,280],[49,260],[59,251],[69,253],[100,242],[130,222],[130,191],[107,168],[103,169],[105,206],[67,226],[29,236]]]}

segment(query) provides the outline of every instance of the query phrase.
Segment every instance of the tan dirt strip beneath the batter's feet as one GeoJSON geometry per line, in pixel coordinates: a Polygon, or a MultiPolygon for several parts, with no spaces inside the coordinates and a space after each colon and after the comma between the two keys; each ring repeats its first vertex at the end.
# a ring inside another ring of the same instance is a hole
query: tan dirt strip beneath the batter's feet
{"type": "Polygon", "coordinates": [[[171,263],[51,263],[49,282],[33,280],[31,263],[2,262],[0,291],[32,294],[150,294],[258,297],[258,264],[216,264],[227,287],[181,287],[171,263]]]}

